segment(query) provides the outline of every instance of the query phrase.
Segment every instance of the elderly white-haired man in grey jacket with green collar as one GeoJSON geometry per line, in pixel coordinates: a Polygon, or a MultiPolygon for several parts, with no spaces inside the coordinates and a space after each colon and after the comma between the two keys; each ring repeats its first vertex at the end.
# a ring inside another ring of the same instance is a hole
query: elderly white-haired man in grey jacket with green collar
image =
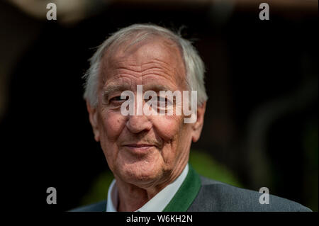
{"type": "Polygon", "coordinates": [[[269,204],[259,203],[261,193],[206,179],[188,164],[191,142],[203,128],[203,74],[191,43],[166,28],[135,24],[105,40],[91,58],[84,98],[94,138],[115,179],[107,200],[73,211],[309,210],[276,196],[269,197],[269,204]],[[152,104],[150,95],[138,100],[141,91],[152,91],[152,104]],[[177,95],[183,91],[196,95],[189,101],[187,93],[177,95]],[[129,114],[125,103],[133,105],[129,114]],[[187,122],[185,111],[177,110],[189,103],[196,108],[187,122]],[[173,113],[167,114],[168,108],[173,113]]]}

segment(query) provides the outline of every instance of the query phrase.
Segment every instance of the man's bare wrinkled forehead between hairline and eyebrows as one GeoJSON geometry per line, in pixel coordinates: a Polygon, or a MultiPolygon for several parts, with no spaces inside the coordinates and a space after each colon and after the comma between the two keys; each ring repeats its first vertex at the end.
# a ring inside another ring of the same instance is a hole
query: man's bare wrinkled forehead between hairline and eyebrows
{"type": "Polygon", "coordinates": [[[132,40],[106,50],[100,68],[104,82],[124,78],[181,84],[185,80],[181,51],[172,40],[150,37],[130,43],[132,40]]]}

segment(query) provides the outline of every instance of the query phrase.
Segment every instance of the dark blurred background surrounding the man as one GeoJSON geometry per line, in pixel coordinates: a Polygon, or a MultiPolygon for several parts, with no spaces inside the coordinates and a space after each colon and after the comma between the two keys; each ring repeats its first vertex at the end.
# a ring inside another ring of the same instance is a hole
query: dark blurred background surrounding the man
{"type": "Polygon", "coordinates": [[[258,1],[96,1],[73,21],[59,5],[47,21],[45,8],[35,16],[0,2],[4,198],[25,210],[79,205],[108,168],[82,99],[87,60],[118,28],[156,23],[185,26],[206,64],[205,124],[192,147],[244,188],[267,186],[318,211],[318,1],[266,2],[269,21],[259,20],[258,1]],[[46,203],[50,186],[57,205],[46,203]]]}

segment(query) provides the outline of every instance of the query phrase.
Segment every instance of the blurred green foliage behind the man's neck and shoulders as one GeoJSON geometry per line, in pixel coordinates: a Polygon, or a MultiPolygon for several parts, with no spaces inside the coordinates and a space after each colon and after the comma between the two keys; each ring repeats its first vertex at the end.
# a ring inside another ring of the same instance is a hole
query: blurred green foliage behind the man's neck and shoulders
{"type": "MultiPolygon", "coordinates": [[[[198,174],[201,174],[202,176],[240,187],[240,183],[237,181],[232,172],[226,169],[226,167],[222,164],[218,164],[218,162],[216,162],[213,157],[206,152],[191,150],[189,163],[198,172],[198,174]]],[[[88,193],[86,193],[80,204],[88,205],[96,203],[99,200],[106,199],[108,186],[110,186],[112,180],[112,172],[109,170],[103,171],[96,177],[91,188],[88,193]]]]}

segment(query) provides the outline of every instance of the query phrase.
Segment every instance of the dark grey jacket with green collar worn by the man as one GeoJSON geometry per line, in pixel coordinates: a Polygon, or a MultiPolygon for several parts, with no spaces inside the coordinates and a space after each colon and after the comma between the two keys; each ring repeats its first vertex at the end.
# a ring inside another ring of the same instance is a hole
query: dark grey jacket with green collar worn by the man
{"type": "MultiPolygon", "coordinates": [[[[269,194],[269,204],[259,203],[263,193],[230,186],[199,176],[191,166],[179,191],[163,211],[189,212],[305,212],[311,211],[291,200],[269,194]]],[[[105,212],[106,200],[71,210],[105,212]]]]}

